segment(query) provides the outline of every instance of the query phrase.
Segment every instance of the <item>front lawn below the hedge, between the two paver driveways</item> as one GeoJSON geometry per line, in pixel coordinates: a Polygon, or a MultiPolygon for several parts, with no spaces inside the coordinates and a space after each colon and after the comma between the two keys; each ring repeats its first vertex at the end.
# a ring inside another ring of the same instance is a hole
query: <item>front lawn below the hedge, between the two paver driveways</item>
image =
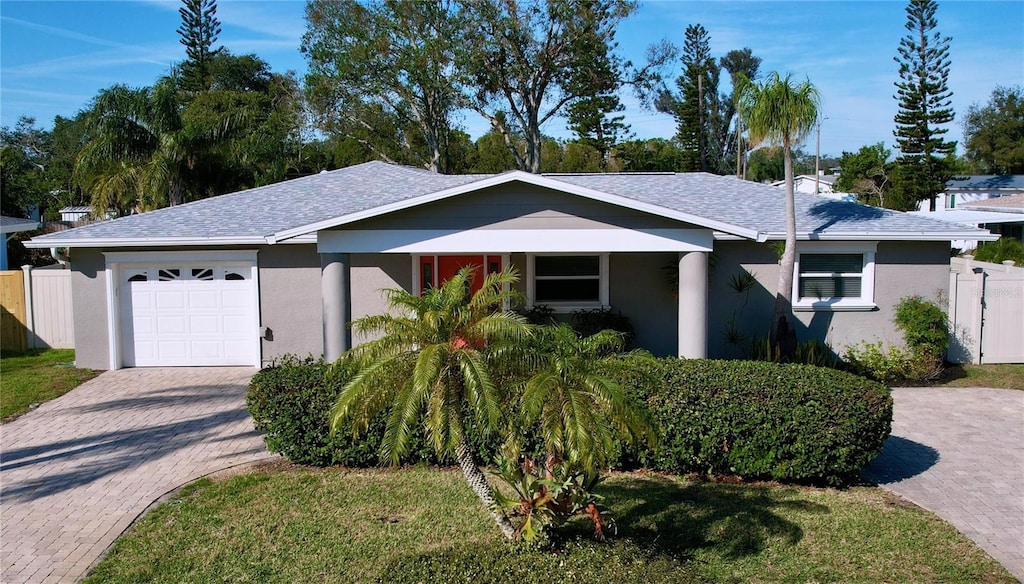
{"type": "Polygon", "coordinates": [[[509,545],[450,469],[274,463],[204,478],[140,519],[97,582],[1015,582],[948,524],[876,488],[616,473],[611,543],[509,545]]]}

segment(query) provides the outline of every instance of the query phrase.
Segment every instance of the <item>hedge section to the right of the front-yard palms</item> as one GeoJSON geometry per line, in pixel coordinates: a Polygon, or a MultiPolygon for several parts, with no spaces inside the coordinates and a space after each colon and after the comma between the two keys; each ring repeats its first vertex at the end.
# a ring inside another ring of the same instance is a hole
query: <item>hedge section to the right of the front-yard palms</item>
{"type": "Polygon", "coordinates": [[[834,369],[625,357],[617,378],[659,422],[660,449],[637,456],[664,472],[842,485],[892,425],[885,386],[834,369]]]}

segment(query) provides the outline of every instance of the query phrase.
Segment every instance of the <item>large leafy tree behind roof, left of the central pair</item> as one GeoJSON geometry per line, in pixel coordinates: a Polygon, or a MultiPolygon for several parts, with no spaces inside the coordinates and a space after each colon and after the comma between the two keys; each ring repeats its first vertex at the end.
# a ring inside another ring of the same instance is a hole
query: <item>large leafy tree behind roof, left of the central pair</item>
{"type": "Polygon", "coordinates": [[[454,4],[312,0],[306,26],[306,91],[321,129],[387,161],[396,161],[397,144],[417,165],[450,171],[453,117],[465,107],[455,78],[464,31],[454,4]]]}

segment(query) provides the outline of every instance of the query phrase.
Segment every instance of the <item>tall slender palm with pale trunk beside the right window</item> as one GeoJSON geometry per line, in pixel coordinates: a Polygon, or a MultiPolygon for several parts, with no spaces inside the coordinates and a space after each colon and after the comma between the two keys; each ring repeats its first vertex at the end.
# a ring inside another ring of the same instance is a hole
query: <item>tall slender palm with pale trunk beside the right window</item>
{"type": "Polygon", "coordinates": [[[739,111],[753,143],[768,141],[781,145],[785,169],[785,248],[779,261],[778,289],[771,340],[780,354],[791,356],[797,348],[797,335],[790,318],[793,315],[793,278],[797,258],[797,214],[794,201],[793,147],[799,143],[818,119],[820,97],[810,81],[795,82],[792,75],[778,73],[764,83],[745,77],[740,81],[739,111]]]}

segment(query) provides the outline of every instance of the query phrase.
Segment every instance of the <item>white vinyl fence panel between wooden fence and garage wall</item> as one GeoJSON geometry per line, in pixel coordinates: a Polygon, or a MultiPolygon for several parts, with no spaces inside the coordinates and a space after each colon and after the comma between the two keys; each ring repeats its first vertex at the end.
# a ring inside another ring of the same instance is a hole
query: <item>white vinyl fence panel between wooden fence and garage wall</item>
{"type": "Polygon", "coordinates": [[[24,266],[30,348],[75,348],[71,270],[56,264],[24,266]]]}

